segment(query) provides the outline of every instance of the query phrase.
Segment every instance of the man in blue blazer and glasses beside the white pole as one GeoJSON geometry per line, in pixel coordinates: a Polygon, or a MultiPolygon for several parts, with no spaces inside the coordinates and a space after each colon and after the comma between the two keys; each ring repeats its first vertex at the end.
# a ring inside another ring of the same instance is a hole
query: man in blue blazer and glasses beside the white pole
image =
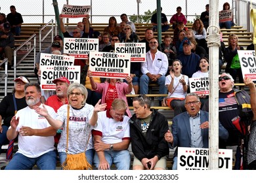
{"type": "MultiPolygon", "coordinates": [[[[186,112],[173,118],[171,131],[165,133],[169,148],[209,147],[209,113],[200,110],[201,102],[196,93],[188,93],[185,98],[186,112]]],[[[228,139],[228,131],[219,123],[219,138],[228,139]]],[[[177,170],[178,148],[173,154],[173,170],[177,170]]]]}

